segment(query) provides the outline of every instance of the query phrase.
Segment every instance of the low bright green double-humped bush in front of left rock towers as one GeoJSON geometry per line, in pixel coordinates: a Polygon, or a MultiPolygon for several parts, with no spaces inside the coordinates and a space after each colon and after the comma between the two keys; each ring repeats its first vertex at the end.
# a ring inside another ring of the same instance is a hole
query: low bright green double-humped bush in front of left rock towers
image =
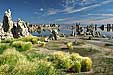
{"type": "Polygon", "coordinates": [[[12,43],[12,47],[15,47],[18,51],[31,50],[32,46],[31,42],[14,41],[12,43]]]}

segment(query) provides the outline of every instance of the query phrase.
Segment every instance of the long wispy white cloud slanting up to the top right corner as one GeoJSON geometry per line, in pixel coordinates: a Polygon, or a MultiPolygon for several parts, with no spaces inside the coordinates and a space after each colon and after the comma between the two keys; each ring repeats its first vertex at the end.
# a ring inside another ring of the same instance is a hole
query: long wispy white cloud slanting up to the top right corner
{"type": "MultiPolygon", "coordinates": [[[[89,3],[91,3],[91,1],[90,0],[65,0],[65,1],[66,2],[65,2],[65,5],[64,5],[64,7],[65,7],[64,9],[62,9],[62,10],[61,9],[53,9],[53,8],[48,9],[47,15],[54,15],[54,14],[58,14],[58,13],[72,14],[72,13],[81,12],[81,11],[84,11],[84,10],[92,9],[92,8],[113,2],[113,0],[103,1],[103,2],[100,2],[100,3],[94,4],[94,5],[90,5],[90,6],[87,6],[87,7],[81,7],[79,9],[76,9],[75,7],[76,7],[77,2],[79,2],[79,3],[85,2],[85,3],[88,4],[88,1],[89,1],[89,3]],[[70,6],[71,4],[72,4],[72,6],[70,6]]],[[[95,1],[95,0],[92,0],[92,1],[95,1]]]]}

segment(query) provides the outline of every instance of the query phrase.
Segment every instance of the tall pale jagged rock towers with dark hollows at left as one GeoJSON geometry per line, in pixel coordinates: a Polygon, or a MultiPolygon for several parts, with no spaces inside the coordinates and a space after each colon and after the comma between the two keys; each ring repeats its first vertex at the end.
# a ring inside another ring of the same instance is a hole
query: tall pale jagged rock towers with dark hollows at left
{"type": "Polygon", "coordinates": [[[13,22],[10,9],[6,10],[3,17],[3,23],[0,23],[0,38],[19,38],[30,35],[27,26],[29,23],[18,19],[13,22]]]}

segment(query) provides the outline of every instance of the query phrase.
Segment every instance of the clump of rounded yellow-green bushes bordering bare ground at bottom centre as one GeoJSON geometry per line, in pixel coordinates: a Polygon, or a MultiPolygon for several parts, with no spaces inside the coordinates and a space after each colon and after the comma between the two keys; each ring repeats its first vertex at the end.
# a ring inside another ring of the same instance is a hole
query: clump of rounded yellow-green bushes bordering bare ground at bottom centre
{"type": "Polygon", "coordinates": [[[78,53],[64,53],[61,51],[50,55],[49,61],[58,69],[64,69],[71,73],[87,72],[92,68],[92,61],[88,57],[82,57],[78,53]]]}

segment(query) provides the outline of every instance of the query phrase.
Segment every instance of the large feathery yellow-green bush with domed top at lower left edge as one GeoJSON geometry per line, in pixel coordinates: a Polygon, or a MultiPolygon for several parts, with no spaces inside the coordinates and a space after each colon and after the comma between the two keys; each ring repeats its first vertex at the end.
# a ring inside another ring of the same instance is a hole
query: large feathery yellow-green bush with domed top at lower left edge
{"type": "Polygon", "coordinates": [[[8,64],[14,66],[18,61],[26,60],[26,57],[16,51],[14,48],[7,49],[3,52],[3,55],[0,56],[0,65],[8,64]]]}

